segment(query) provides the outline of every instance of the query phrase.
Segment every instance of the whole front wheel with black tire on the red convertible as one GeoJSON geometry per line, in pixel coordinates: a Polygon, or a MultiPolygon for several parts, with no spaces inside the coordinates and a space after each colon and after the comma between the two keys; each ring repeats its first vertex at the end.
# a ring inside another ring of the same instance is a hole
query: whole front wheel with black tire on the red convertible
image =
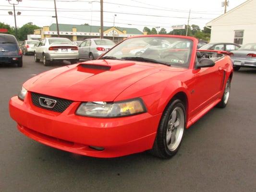
{"type": "Polygon", "coordinates": [[[150,153],[161,158],[175,155],[182,143],[186,126],[186,110],[180,99],[173,99],[162,114],[150,153]]]}

